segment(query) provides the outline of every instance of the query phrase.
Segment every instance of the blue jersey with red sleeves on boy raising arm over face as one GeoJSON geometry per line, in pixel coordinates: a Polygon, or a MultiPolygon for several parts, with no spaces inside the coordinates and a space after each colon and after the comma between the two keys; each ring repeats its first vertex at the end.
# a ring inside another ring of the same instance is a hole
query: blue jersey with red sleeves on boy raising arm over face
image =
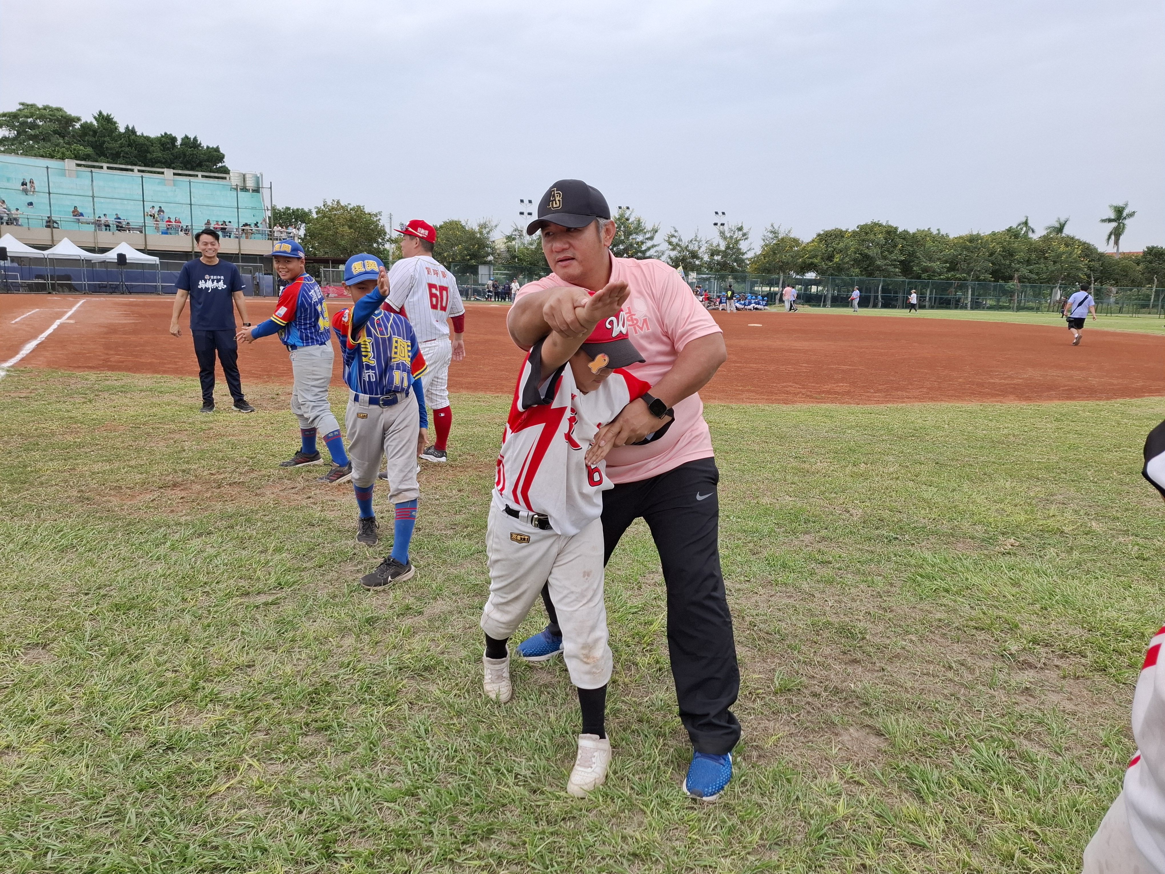
{"type": "Polygon", "coordinates": [[[344,381],[358,394],[405,392],[428,367],[412,325],[404,316],[380,309],[381,303],[380,295],[367,295],[332,317],[344,381]]]}

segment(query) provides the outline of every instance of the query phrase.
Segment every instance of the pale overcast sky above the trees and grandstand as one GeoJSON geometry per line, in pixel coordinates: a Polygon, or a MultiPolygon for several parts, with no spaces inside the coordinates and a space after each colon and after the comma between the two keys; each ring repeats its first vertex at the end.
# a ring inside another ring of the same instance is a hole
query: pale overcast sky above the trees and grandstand
{"type": "Polygon", "coordinates": [[[518,220],[557,178],[663,230],[1024,216],[1165,244],[1160,0],[0,3],[0,108],[196,134],[282,205],[518,220]]]}

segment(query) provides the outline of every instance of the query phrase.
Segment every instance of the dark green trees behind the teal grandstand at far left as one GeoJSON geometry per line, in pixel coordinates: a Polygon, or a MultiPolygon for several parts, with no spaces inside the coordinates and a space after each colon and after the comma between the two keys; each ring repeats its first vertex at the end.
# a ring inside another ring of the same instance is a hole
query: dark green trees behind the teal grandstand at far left
{"type": "Polygon", "coordinates": [[[204,146],[197,136],[139,133],[120,126],[107,112],[90,121],[59,106],[21,103],[0,112],[0,151],[29,157],[100,161],[135,167],[168,167],[197,172],[228,172],[218,146],[204,146]]]}

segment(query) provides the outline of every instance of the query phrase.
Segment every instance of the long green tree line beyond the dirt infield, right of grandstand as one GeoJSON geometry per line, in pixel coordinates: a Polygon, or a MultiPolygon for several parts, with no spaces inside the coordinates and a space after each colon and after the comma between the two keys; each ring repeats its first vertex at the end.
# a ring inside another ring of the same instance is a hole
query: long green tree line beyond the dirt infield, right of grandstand
{"type": "MultiPolygon", "coordinates": [[[[1132,212],[1123,209],[1125,221],[1132,212]]],[[[659,258],[692,273],[757,273],[770,275],[882,276],[911,280],[960,280],[1058,284],[1095,282],[1103,286],[1149,287],[1165,284],[1165,247],[1149,246],[1143,254],[1114,258],[1090,242],[1066,233],[1067,219],[1058,219],[1036,232],[1025,218],[1012,227],[988,233],[951,235],[919,228],[906,231],[885,221],[867,221],[855,228],[829,228],[809,241],[770,225],[753,249],[743,225],[718,227],[711,237],[683,235],[676,228],[663,234],[630,209],[615,217],[612,252],[619,258],[659,258]]],[[[273,224],[296,226],[310,255],[347,258],[372,252],[395,259],[381,213],[362,206],[325,202],[315,210],[282,207],[273,224]]],[[[1124,227],[1114,224],[1115,242],[1124,227]]],[[[497,233],[489,219],[450,219],[437,225],[433,256],[458,267],[495,263],[545,270],[537,237],[514,226],[497,233]]],[[[1111,239],[1111,235],[1110,235],[1111,239]]]]}

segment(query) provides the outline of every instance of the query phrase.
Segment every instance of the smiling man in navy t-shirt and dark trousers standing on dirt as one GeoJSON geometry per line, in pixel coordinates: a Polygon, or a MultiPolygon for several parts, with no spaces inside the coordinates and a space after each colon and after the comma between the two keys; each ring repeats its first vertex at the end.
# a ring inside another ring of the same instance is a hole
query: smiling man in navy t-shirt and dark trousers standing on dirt
{"type": "Polygon", "coordinates": [[[235,324],[233,308],[238,308],[243,326],[249,326],[247,304],[242,297],[246,288],[239,268],[230,261],[219,260],[219,234],[204,227],[195,235],[202,258],[188,261],[175,283],[174,313],[170,333],[182,333],[178,318],[190,298],[190,333],[195,338],[195,354],[198,357],[198,379],[203,383],[203,413],[214,411],[214,353],[218,352],[223,375],[234,399],[239,413],[254,413],[255,408],[242,396],[239,379],[239,343],[234,339],[235,324]]]}

